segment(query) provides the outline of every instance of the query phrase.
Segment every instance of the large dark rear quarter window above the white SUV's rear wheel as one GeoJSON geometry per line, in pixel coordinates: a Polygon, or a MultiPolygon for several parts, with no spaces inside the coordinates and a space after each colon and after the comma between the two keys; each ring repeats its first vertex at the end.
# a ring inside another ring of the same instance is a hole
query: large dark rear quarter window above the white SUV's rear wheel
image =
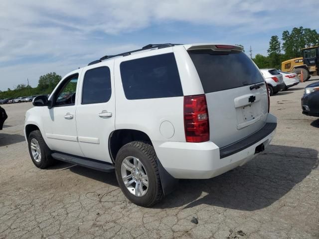
{"type": "Polygon", "coordinates": [[[183,96],[173,53],[124,61],[120,70],[128,100],[183,96]]]}

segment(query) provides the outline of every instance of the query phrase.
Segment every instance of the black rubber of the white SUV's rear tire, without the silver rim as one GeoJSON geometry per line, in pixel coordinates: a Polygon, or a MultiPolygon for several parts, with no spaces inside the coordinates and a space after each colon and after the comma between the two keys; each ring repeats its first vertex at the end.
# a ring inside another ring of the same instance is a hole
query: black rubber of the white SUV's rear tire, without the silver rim
{"type": "Polygon", "coordinates": [[[122,189],[122,192],[132,203],[142,207],[151,207],[154,204],[160,202],[160,200],[163,198],[157,159],[158,158],[155,153],[154,147],[149,142],[144,141],[133,141],[127,143],[122,146],[122,148],[120,148],[118,154],[116,155],[116,177],[120,188],[122,189]],[[149,187],[144,196],[135,196],[129,191],[129,189],[123,182],[121,175],[121,166],[123,160],[129,156],[138,158],[144,165],[144,168],[148,175],[149,187]]]}

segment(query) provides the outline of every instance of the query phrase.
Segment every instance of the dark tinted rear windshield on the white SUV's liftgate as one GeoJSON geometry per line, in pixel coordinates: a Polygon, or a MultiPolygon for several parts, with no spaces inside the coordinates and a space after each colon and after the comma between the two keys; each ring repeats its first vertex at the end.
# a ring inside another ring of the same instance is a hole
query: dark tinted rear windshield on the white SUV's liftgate
{"type": "Polygon", "coordinates": [[[264,82],[259,69],[243,52],[188,51],[205,93],[264,82]]]}

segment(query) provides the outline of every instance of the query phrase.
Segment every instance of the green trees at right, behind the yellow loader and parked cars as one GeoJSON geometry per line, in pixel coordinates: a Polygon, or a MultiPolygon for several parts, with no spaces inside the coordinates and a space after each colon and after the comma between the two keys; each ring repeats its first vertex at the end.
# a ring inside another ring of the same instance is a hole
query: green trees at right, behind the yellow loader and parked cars
{"type": "Polygon", "coordinates": [[[281,68],[281,62],[301,57],[301,49],[319,45],[319,34],[310,28],[294,27],[282,33],[282,42],[277,35],[270,38],[268,56],[257,54],[253,61],[259,68],[281,68]]]}

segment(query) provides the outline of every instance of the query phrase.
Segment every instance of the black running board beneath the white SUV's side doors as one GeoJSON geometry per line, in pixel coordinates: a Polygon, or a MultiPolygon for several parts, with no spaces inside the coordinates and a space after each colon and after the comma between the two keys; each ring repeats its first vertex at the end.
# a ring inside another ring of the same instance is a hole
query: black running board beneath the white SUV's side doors
{"type": "Polygon", "coordinates": [[[57,159],[63,162],[76,164],[79,166],[99,170],[102,172],[114,172],[114,167],[111,163],[107,163],[107,162],[103,162],[99,160],[84,158],[80,156],[74,156],[71,154],[60,153],[60,152],[52,153],[52,157],[54,159],[57,159]]]}

